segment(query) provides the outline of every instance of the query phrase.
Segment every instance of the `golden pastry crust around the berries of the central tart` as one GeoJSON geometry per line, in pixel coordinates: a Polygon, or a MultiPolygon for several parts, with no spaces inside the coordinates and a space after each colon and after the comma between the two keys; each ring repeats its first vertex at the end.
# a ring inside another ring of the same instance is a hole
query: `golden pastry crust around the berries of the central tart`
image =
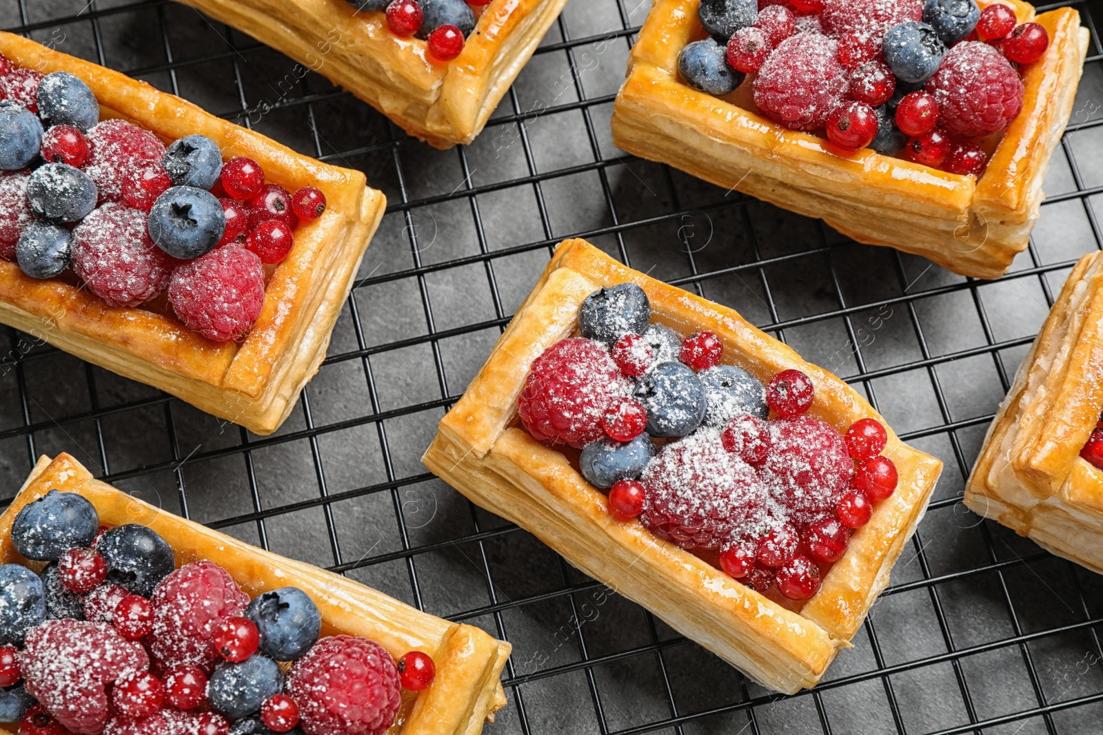
{"type": "Polygon", "coordinates": [[[849,386],[735,311],[625,268],[585,240],[566,240],[467,392],[441,420],[422,462],[475,504],[522,526],[756,681],[790,693],[813,687],[838,649],[849,647],[888,583],[942,463],[888,430],[885,454],[899,469],[899,487],[854,534],[820,593],[803,606],[760,595],[660,540],[638,520],[615,520],[604,495],[564,454],[517,428],[516,406],[529,365],[572,333],[586,296],[629,281],[647,293],[655,321],[682,334],[715,332],[724,342],[722,360],[759,380],[789,368],[803,370],[815,383],[815,418],[839,431],[864,417],[884,423],[849,386]]]}

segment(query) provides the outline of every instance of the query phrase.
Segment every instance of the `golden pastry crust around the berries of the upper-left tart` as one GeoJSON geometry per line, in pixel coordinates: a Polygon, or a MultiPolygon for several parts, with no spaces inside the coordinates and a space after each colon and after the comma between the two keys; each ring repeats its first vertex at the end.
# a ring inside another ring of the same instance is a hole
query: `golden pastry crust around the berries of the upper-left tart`
{"type": "Polygon", "coordinates": [[[162,302],[108,306],[86,289],[39,281],[0,261],[0,322],[255,433],[275,431],[325,357],[386,197],[365,187],[358,171],[300,155],[118,72],[11,33],[0,32],[0,54],[43,74],[81,77],[99,100],[101,118],[125,118],[165,141],[202,133],[225,158],[260,163],[270,183],[325,194],[325,213],[296,230],[291,253],[268,279],[260,317],[240,343],[204,338],[162,302]]]}

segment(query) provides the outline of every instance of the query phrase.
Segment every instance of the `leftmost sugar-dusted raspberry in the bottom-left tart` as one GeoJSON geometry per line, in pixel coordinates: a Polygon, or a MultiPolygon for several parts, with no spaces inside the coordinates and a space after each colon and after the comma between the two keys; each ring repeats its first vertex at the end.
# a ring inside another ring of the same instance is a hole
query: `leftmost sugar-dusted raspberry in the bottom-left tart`
{"type": "Polygon", "coordinates": [[[26,692],[79,735],[103,732],[108,687],[148,668],[140,644],[109,625],[73,619],[46,620],[34,628],[20,655],[26,692]]]}

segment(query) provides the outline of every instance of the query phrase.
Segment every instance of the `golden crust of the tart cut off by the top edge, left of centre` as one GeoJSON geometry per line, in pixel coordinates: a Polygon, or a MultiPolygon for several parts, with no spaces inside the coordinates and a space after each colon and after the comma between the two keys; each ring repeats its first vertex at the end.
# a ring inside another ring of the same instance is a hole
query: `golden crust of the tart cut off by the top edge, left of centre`
{"type": "MultiPolygon", "coordinates": [[[[345,0],[179,0],[318,72],[436,148],[470,143],[567,0],[491,0],[458,57],[345,0]]],[[[360,3],[356,3],[360,4],[360,3]]],[[[479,12],[479,9],[476,9],[479,12]]]]}

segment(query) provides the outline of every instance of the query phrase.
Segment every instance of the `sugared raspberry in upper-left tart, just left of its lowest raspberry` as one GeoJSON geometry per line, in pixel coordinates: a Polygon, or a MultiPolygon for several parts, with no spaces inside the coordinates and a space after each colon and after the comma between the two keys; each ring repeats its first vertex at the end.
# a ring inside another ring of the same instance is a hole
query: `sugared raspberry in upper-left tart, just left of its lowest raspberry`
{"type": "Polygon", "coordinates": [[[94,209],[73,230],[73,270],[113,306],[137,306],[169,282],[172,258],[153,245],[146,213],[121,204],[94,209]]]}

